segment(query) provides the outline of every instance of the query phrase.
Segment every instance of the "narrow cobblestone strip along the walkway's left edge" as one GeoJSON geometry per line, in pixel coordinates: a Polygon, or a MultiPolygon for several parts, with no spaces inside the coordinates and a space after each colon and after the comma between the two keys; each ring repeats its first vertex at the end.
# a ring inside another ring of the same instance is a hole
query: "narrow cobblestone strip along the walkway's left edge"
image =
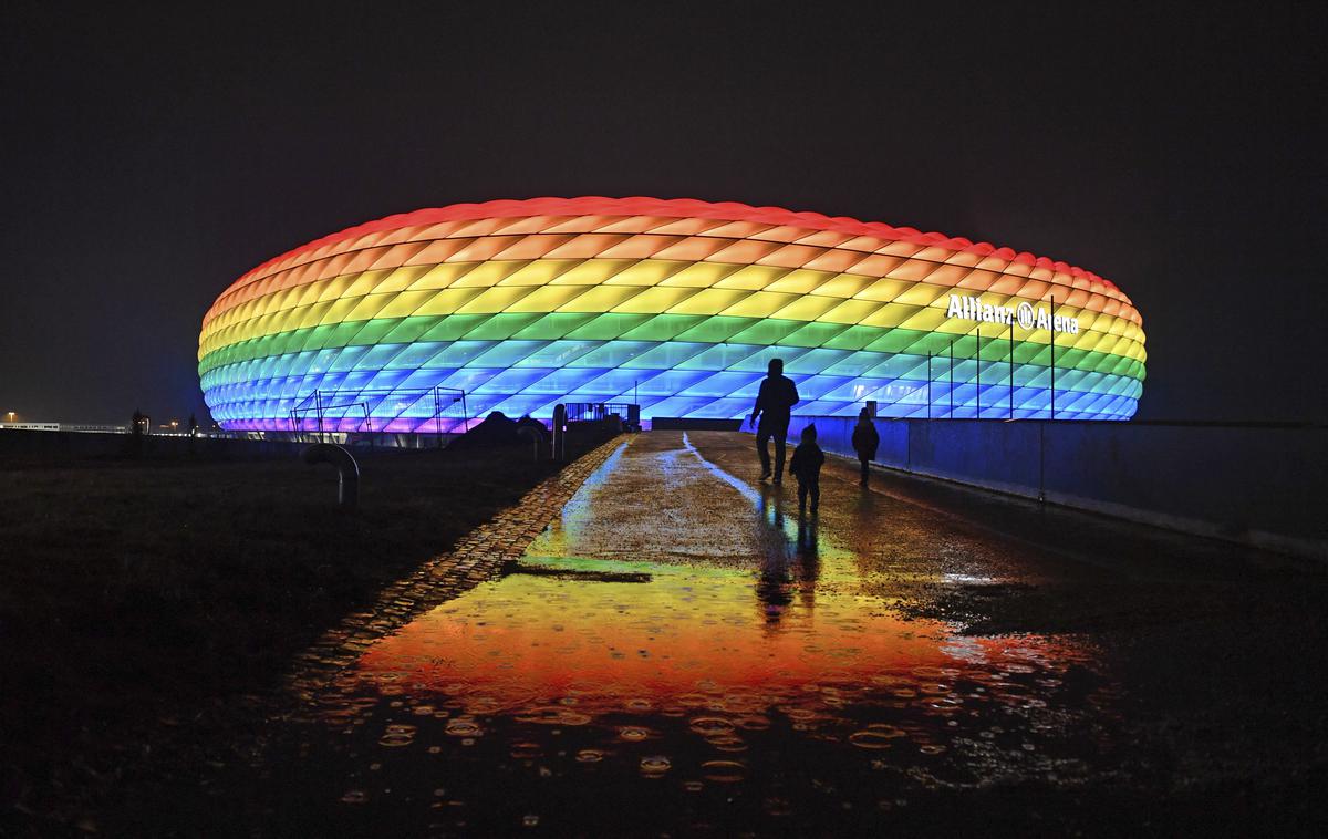
{"type": "Polygon", "coordinates": [[[519,502],[462,536],[452,551],[382,589],[371,608],[348,615],[295,658],[286,680],[287,689],[300,705],[316,704],[336,673],[357,661],[376,641],[498,576],[502,564],[521,558],[586,479],[629,442],[631,438],[615,437],[587,451],[558,474],[544,478],[519,502]]]}

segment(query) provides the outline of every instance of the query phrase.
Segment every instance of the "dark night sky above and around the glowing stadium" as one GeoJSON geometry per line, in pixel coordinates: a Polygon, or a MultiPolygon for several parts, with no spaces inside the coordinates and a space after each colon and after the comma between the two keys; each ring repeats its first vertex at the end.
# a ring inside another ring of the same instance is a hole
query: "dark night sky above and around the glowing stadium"
{"type": "Polygon", "coordinates": [[[255,264],[599,194],[1064,259],[1143,315],[1141,417],[1328,421],[1321,3],[102,5],[0,11],[0,412],[202,418],[255,264]]]}

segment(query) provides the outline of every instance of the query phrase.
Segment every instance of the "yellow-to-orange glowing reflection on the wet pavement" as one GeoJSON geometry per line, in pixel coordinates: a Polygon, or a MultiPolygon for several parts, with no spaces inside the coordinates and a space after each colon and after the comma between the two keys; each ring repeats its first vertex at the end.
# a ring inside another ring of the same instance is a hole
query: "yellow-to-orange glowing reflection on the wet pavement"
{"type": "Polygon", "coordinates": [[[733,725],[772,713],[829,725],[850,722],[843,708],[861,702],[947,714],[963,705],[955,680],[1086,660],[1042,639],[968,639],[900,619],[849,584],[854,570],[839,552],[819,552],[756,572],[539,560],[574,579],[517,573],[483,584],[372,647],[357,676],[382,694],[533,722],[705,709],[734,716],[733,725]],[[584,581],[578,572],[652,579],[584,581]]]}

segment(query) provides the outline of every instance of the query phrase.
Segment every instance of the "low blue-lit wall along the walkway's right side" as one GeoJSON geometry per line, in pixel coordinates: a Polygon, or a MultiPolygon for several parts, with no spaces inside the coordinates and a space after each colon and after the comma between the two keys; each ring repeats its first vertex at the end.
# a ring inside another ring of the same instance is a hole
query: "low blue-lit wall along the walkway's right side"
{"type": "MultiPolygon", "coordinates": [[[[815,422],[855,458],[855,420],[815,422]]],[[[1150,422],[876,420],[876,463],[1173,530],[1328,559],[1328,429],[1150,422]]]]}

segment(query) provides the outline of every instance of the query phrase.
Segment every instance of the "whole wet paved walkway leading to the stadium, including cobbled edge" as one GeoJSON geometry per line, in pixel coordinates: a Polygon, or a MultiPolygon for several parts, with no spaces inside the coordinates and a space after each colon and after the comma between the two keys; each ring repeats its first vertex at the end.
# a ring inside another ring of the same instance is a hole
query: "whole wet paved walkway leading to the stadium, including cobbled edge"
{"type": "Polygon", "coordinates": [[[1220,812],[1194,790],[1259,766],[1296,815],[1323,665],[1263,652],[1254,674],[1223,654],[1270,647],[1236,611],[1321,588],[1149,528],[896,475],[862,489],[837,458],[799,514],[791,479],[758,479],[749,435],[624,437],[311,650],[308,714],[270,755],[259,820],[1074,832],[1181,802],[1154,824],[1190,828],[1220,812]],[[1301,735],[1232,734],[1235,718],[1301,735]]]}

